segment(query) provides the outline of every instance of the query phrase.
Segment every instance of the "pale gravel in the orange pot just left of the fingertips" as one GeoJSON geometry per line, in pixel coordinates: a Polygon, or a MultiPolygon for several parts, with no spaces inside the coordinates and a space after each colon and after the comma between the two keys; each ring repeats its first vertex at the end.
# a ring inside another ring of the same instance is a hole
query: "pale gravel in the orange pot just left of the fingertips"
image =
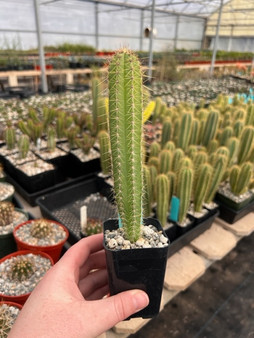
{"type": "Polygon", "coordinates": [[[20,228],[17,229],[15,234],[20,241],[29,245],[50,246],[56,245],[66,238],[66,232],[64,231],[64,229],[54,222],[51,223],[52,232],[49,236],[45,238],[33,237],[31,235],[32,224],[33,222],[30,222],[22,225],[20,228]]]}

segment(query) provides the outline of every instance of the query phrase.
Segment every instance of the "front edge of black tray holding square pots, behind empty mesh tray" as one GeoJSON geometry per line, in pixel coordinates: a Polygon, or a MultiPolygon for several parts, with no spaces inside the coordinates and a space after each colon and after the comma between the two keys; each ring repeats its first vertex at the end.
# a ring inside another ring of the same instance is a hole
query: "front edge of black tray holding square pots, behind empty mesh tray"
{"type": "Polygon", "coordinates": [[[36,199],[39,198],[40,196],[44,196],[46,194],[49,194],[51,192],[63,189],[65,187],[71,186],[73,184],[76,184],[77,182],[84,181],[85,179],[89,179],[91,175],[84,175],[77,177],[75,179],[66,179],[65,181],[54,184],[49,188],[43,189],[36,191],[34,193],[29,193],[24,187],[22,187],[12,176],[7,175],[6,176],[6,181],[8,183],[11,183],[14,187],[15,190],[32,206],[36,206],[36,199]]]}

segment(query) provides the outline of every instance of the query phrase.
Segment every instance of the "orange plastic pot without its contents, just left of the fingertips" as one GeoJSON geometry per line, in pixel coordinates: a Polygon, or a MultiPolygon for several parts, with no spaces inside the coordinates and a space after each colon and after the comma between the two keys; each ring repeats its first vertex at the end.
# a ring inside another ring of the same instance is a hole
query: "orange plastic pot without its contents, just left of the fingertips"
{"type": "Polygon", "coordinates": [[[31,245],[31,244],[28,244],[28,243],[25,243],[25,242],[21,241],[17,237],[16,232],[22,226],[24,226],[26,224],[29,224],[29,223],[32,223],[33,221],[34,220],[23,222],[23,223],[17,225],[14,228],[14,230],[13,230],[13,236],[14,236],[14,239],[15,239],[15,241],[17,243],[18,250],[31,250],[31,251],[45,252],[46,254],[50,255],[51,258],[53,259],[54,263],[56,263],[58,261],[58,259],[60,258],[60,255],[61,255],[64,243],[67,241],[67,239],[69,237],[69,231],[68,231],[68,229],[64,225],[62,225],[62,224],[60,224],[60,223],[58,223],[56,221],[51,221],[50,220],[50,222],[59,225],[65,231],[65,233],[66,233],[65,239],[63,239],[61,242],[59,242],[57,244],[54,244],[54,245],[47,245],[47,246],[31,245]]]}

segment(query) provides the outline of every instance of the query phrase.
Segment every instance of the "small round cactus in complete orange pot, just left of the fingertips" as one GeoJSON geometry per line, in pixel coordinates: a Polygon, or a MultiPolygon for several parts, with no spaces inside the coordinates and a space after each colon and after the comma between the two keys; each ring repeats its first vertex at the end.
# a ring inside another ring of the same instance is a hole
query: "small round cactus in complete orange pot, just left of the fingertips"
{"type": "Polygon", "coordinates": [[[13,236],[18,250],[45,252],[56,263],[69,232],[65,226],[56,221],[36,219],[17,225],[13,230],[13,236]]]}

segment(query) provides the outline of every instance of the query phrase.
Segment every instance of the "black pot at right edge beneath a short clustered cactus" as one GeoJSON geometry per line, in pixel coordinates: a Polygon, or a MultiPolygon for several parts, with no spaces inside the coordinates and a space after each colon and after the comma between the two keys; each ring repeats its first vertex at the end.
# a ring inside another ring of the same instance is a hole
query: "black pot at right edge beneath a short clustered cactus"
{"type": "Polygon", "coordinates": [[[229,224],[234,224],[239,221],[239,219],[246,216],[248,213],[254,211],[254,200],[250,201],[246,206],[239,210],[235,210],[227,206],[226,204],[216,200],[216,203],[219,204],[220,218],[223,221],[226,221],[229,224]]]}

